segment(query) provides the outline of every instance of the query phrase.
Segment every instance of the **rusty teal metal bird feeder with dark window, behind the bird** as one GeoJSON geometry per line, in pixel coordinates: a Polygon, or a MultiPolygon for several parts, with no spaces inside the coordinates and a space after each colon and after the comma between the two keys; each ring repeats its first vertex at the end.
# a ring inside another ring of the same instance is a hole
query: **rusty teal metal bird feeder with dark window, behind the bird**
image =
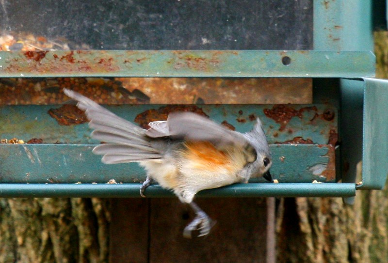
{"type": "MultiPolygon", "coordinates": [[[[353,197],[356,189],[384,187],[388,82],[372,78],[371,1],[285,1],[277,7],[261,1],[92,2],[77,8],[78,1],[7,3],[0,17],[6,25],[0,77],[7,96],[28,96],[18,90],[20,83],[43,97],[61,96],[63,87],[99,85],[109,96],[119,91],[144,103],[150,100],[147,85],[187,77],[188,85],[203,81],[214,87],[191,104],[155,103],[159,96],[151,98],[153,104],[107,108],[143,127],[177,110],[240,132],[259,117],[279,183],[252,180],[204,190],[199,197],[353,197]],[[143,79],[145,90],[115,82],[129,77],[143,79]],[[212,101],[212,89],[237,87],[239,81],[250,91],[228,92],[247,102],[212,101]],[[260,94],[260,103],[249,101],[260,94]],[[362,178],[356,179],[361,160],[362,178]]],[[[171,89],[185,93],[182,85],[171,89]]],[[[166,90],[164,96],[171,94],[166,90]]],[[[102,164],[91,152],[99,142],[90,138],[74,105],[29,99],[35,105],[1,106],[0,196],[140,197],[145,171],[137,164],[102,164]],[[9,143],[13,138],[16,143],[9,143]]],[[[146,194],[173,196],[157,185],[146,194]]]]}

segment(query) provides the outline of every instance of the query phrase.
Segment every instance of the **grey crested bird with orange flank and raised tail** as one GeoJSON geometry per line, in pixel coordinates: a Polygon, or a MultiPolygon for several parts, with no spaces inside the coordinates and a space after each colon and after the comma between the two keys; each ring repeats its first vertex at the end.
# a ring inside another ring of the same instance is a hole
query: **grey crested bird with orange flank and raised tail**
{"type": "Polygon", "coordinates": [[[92,138],[105,142],[93,149],[103,155],[102,163],[138,162],[147,173],[142,197],[156,182],[190,205],[195,217],[184,228],[186,238],[194,231],[208,235],[214,225],[193,201],[197,192],[248,183],[251,177],[273,182],[271,151],[259,118],[251,131],[240,133],[193,112],[171,112],[167,120],[150,122],[149,129],[143,129],[80,93],[66,88],[64,93],[85,112],[92,138]]]}

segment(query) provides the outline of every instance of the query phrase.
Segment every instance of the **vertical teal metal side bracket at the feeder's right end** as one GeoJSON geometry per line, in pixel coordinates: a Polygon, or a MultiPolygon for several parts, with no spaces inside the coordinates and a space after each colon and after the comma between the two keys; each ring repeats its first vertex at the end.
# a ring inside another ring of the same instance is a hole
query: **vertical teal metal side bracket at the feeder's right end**
{"type": "Polygon", "coordinates": [[[388,174],[388,81],[341,79],[342,181],[382,189],[388,174]],[[362,117],[361,117],[362,116],[362,117]],[[356,166],[362,160],[362,178],[356,166]]]}

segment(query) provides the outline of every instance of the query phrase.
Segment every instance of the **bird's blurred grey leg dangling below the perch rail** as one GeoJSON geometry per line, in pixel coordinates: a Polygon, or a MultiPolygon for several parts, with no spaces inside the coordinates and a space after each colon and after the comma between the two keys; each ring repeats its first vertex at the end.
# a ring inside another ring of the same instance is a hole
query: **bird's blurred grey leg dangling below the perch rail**
{"type": "Polygon", "coordinates": [[[191,238],[194,230],[199,230],[198,236],[209,234],[215,222],[196,203],[191,202],[190,206],[195,212],[195,218],[183,230],[183,237],[191,238]]]}

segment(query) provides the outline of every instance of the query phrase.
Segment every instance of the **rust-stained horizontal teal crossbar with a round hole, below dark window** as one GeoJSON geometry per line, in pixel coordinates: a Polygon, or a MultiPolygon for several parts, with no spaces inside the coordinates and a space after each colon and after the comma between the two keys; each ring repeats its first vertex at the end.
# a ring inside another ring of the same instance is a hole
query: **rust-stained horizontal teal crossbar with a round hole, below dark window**
{"type": "Polygon", "coordinates": [[[373,77],[371,51],[1,51],[0,77],[373,77]],[[283,60],[289,57],[290,60],[283,60]]]}

